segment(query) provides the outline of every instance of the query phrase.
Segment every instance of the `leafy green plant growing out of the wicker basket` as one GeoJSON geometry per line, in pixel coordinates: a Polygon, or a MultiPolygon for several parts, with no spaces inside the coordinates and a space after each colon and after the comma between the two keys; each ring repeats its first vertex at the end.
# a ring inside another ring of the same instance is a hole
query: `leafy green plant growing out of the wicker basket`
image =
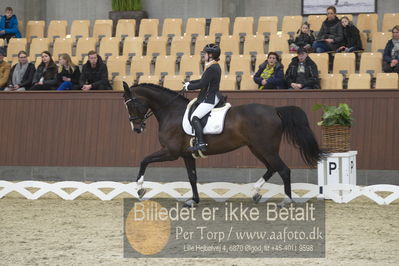
{"type": "Polygon", "coordinates": [[[319,126],[352,125],[352,109],[346,103],[340,103],[338,107],[324,104],[315,104],[313,106],[313,111],[319,109],[323,109],[321,121],[317,123],[319,126]]]}

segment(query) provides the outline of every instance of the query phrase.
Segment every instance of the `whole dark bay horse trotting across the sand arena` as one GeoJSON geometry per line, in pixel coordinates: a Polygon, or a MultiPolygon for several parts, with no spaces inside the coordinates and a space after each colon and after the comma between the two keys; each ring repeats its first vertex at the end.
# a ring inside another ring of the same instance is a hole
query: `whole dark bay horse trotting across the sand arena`
{"type": "MultiPolygon", "coordinates": [[[[144,173],[150,163],[184,159],[193,198],[186,202],[199,203],[195,159],[187,151],[191,136],[182,128],[182,119],[189,100],[175,91],[154,84],[129,86],[124,83],[124,100],[132,129],[141,133],[145,120],[153,113],[159,123],[159,142],[162,149],[148,155],[140,163],[137,176],[138,195],[143,197],[144,173]]],[[[272,107],[245,104],[232,107],[226,115],[224,130],[219,135],[206,135],[208,149],[205,155],[225,153],[242,146],[266,166],[267,171],[254,185],[253,199],[259,201],[259,189],[278,172],[284,182],[284,191],[291,200],[291,170],[279,156],[281,138],[296,146],[308,166],[315,166],[325,156],[309,127],[305,112],[296,106],[272,107]]]]}

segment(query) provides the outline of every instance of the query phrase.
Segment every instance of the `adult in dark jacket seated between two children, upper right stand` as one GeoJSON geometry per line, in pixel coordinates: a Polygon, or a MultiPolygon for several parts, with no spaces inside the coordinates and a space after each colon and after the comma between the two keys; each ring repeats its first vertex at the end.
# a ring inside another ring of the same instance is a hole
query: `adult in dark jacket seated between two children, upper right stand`
{"type": "Polygon", "coordinates": [[[336,51],[342,46],[344,34],[341,21],[336,16],[337,10],[334,6],[327,8],[327,19],[321,25],[313,49],[316,53],[336,51]]]}

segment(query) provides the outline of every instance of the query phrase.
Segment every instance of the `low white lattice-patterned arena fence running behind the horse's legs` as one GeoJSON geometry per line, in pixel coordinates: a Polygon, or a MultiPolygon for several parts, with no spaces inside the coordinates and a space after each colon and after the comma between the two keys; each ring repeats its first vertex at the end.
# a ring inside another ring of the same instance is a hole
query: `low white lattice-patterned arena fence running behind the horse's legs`
{"type": "MultiPolygon", "coordinates": [[[[157,183],[145,182],[144,187],[147,189],[145,198],[156,197],[159,193],[165,193],[172,198],[178,200],[185,200],[192,196],[191,187],[188,182],[171,182],[171,183],[157,183]],[[186,192],[179,192],[178,190],[185,189],[186,192]]],[[[250,184],[234,184],[227,182],[214,182],[206,184],[198,184],[198,190],[201,194],[205,194],[209,198],[215,200],[226,200],[238,194],[252,197],[253,183],[250,184]],[[223,193],[217,192],[221,190],[223,193]]],[[[263,188],[266,190],[263,193],[261,202],[267,201],[270,198],[280,194],[284,194],[284,187],[282,185],[266,183],[263,188]]],[[[307,199],[320,197],[319,186],[308,183],[294,183],[292,184],[292,197],[298,202],[304,202],[307,199]],[[301,195],[299,195],[299,191],[301,195]],[[297,193],[296,193],[297,192],[297,193]],[[303,193],[304,192],[304,193],[303,193]]],[[[83,193],[91,193],[101,200],[112,200],[121,193],[128,193],[132,197],[138,197],[136,193],[136,183],[119,183],[119,182],[94,182],[83,183],[74,181],[65,181],[57,183],[46,183],[40,181],[22,181],[22,182],[9,182],[0,181],[0,198],[3,198],[11,192],[18,192],[27,199],[39,199],[46,193],[54,193],[64,200],[74,200],[83,193]],[[28,189],[35,189],[31,192],[28,189]],[[75,189],[68,193],[64,189],[75,189]],[[101,189],[110,190],[104,193],[101,189]]],[[[360,196],[366,196],[378,204],[390,204],[391,202],[399,199],[399,186],[394,185],[372,185],[367,187],[360,187],[355,185],[325,185],[324,196],[332,199],[338,203],[347,203],[360,196]],[[342,192],[346,193],[342,193],[342,192]],[[390,195],[381,197],[376,194],[377,192],[389,192],[390,195]]]]}

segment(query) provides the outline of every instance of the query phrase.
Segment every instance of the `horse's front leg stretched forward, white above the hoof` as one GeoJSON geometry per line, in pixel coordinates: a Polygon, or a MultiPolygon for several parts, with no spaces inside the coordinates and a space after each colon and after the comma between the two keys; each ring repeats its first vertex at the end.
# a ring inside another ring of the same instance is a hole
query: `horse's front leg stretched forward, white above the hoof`
{"type": "Polygon", "coordinates": [[[137,194],[139,198],[141,199],[144,194],[145,194],[145,189],[143,188],[143,183],[144,183],[144,173],[145,170],[147,169],[147,166],[150,163],[155,163],[155,162],[165,162],[165,161],[174,161],[178,158],[178,156],[171,154],[171,152],[163,148],[160,151],[154,152],[153,154],[150,154],[144,158],[144,160],[141,161],[140,163],[140,170],[139,174],[137,175],[137,194]]]}

